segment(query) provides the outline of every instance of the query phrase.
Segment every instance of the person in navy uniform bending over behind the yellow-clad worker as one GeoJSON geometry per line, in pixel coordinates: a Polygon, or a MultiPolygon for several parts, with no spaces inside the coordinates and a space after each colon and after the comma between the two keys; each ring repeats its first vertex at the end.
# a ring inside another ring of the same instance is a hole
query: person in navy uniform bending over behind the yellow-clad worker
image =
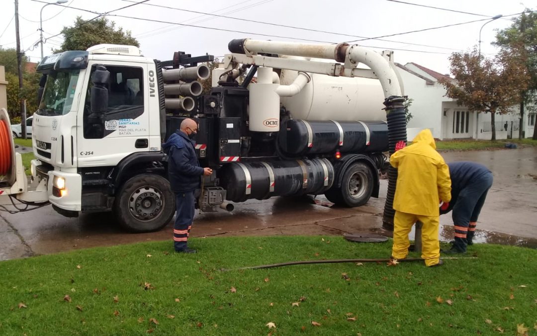
{"type": "Polygon", "coordinates": [[[487,167],[474,162],[451,162],[451,201],[441,206],[440,215],[453,210],[455,240],[445,253],[465,253],[473,245],[477,219],[492,186],[492,173],[487,167]]]}

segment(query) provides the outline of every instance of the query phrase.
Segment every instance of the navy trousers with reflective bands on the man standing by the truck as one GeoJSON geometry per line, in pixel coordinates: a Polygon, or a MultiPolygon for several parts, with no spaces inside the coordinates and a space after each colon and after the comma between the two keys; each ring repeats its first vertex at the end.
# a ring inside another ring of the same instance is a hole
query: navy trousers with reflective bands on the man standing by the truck
{"type": "Polygon", "coordinates": [[[173,224],[173,247],[175,251],[183,251],[194,220],[194,191],[177,192],[175,199],[177,212],[173,224]]]}

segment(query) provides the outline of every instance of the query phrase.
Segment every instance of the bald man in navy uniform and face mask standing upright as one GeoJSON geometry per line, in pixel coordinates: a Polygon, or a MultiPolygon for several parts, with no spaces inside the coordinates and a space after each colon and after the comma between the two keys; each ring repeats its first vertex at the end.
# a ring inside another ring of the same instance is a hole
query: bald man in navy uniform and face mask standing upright
{"type": "Polygon", "coordinates": [[[195,253],[186,242],[194,219],[194,191],[200,188],[201,176],[211,175],[211,168],[201,168],[194,150],[198,124],[185,119],[179,130],[162,146],[168,154],[168,174],[176,195],[177,213],[173,225],[173,247],[176,252],[195,253]]]}

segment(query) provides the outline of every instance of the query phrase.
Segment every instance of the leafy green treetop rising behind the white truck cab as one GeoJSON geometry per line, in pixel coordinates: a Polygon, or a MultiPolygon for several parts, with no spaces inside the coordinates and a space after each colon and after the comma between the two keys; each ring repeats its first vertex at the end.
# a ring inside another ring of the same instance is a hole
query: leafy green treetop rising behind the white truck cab
{"type": "Polygon", "coordinates": [[[63,43],[54,53],[66,50],[86,50],[98,44],[122,44],[139,47],[140,43],[132,37],[130,31],[117,28],[113,21],[99,18],[86,22],[77,17],[71,27],[63,27],[63,43]]]}

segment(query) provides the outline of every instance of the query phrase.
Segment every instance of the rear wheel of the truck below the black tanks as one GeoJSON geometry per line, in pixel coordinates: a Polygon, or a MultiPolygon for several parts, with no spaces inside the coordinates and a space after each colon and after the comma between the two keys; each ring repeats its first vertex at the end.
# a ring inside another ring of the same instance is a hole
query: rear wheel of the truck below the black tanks
{"type": "Polygon", "coordinates": [[[353,163],[343,173],[341,187],[329,189],[324,196],[336,205],[361,206],[373,194],[373,181],[373,173],[365,163],[353,163]]]}

